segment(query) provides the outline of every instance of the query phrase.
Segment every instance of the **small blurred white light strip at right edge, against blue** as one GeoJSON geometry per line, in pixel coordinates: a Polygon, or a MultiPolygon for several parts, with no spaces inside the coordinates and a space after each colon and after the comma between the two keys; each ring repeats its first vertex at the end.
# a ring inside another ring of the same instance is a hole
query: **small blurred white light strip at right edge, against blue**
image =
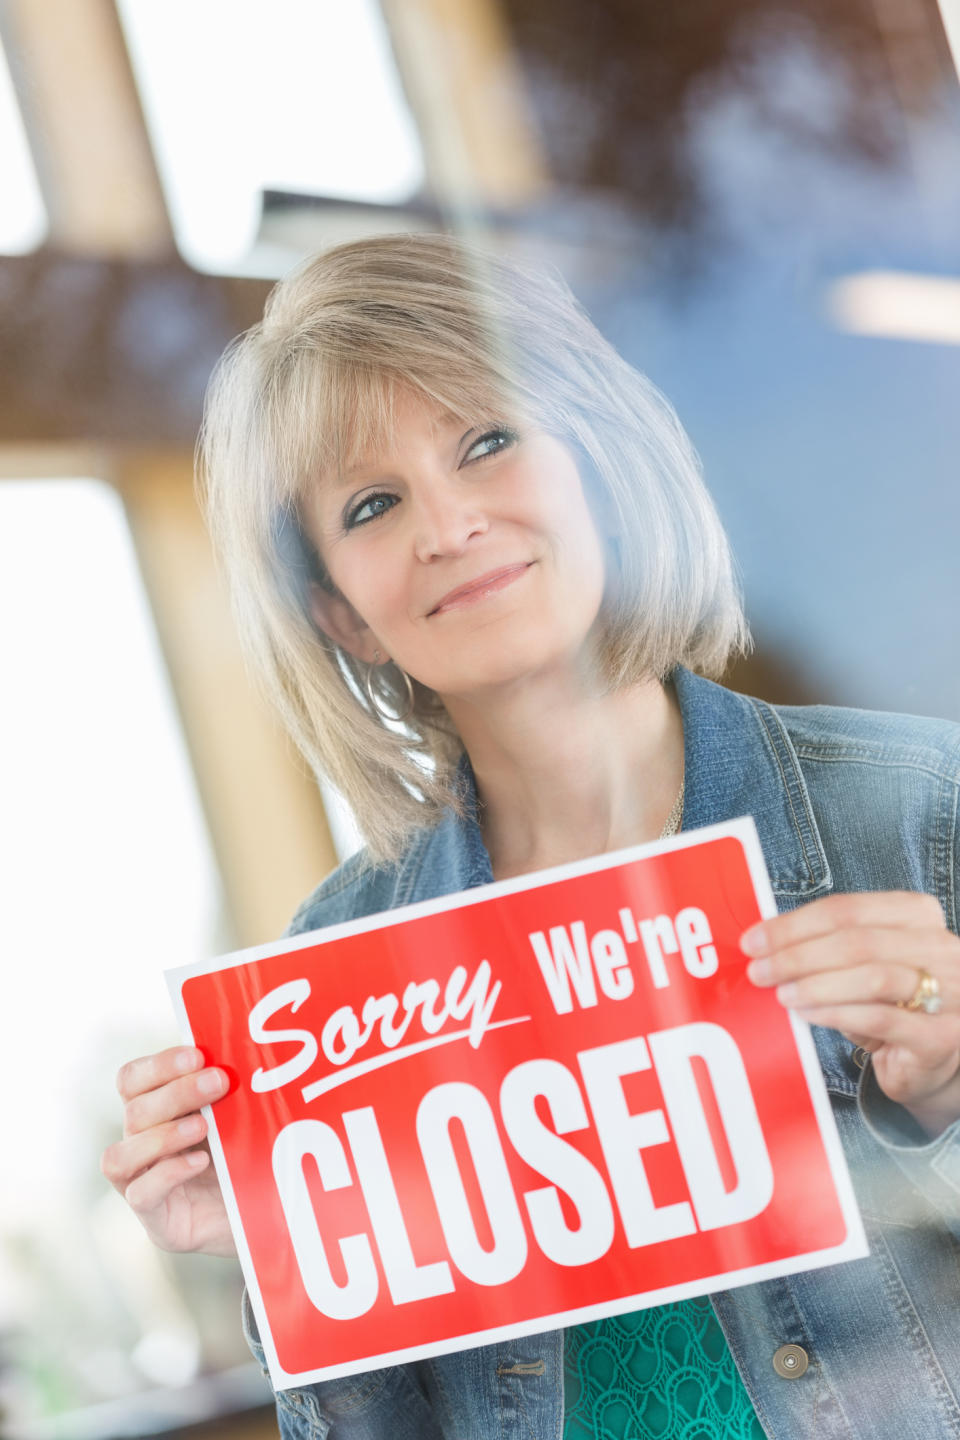
{"type": "Polygon", "coordinates": [[[960,346],[960,279],[865,271],[835,281],[828,311],[839,330],[887,340],[960,346]]]}

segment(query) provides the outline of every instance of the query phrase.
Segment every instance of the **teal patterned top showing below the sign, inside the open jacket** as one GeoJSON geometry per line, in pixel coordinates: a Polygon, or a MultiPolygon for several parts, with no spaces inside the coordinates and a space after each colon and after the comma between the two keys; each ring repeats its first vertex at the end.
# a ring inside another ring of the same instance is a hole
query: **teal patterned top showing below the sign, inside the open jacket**
{"type": "Polygon", "coordinates": [[[764,1440],[707,1296],[564,1336],[563,1440],[764,1440]]]}

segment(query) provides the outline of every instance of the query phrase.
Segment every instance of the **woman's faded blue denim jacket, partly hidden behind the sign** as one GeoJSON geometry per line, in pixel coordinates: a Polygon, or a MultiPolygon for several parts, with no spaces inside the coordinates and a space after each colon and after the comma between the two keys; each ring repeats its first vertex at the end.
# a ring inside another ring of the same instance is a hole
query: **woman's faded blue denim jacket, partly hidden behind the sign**
{"type": "MultiPolygon", "coordinates": [[[[960,726],[773,707],[684,670],[674,684],[685,829],[753,815],[780,910],[925,890],[957,930],[960,726]]],[[[353,857],[291,933],[491,880],[476,824],[448,818],[394,865],[353,857]]],[[[960,1122],[928,1140],[864,1053],[813,1034],[869,1257],[714,1295],[714,1309],[769,1436],[960,1437],[960,1122]]],[[[262,1362],[248,1305],[245,1326],[262,1362]]],[[[563,1332],[284,1391],[278,1416],[285,1440],[560,1440],[563,1332]]]]}

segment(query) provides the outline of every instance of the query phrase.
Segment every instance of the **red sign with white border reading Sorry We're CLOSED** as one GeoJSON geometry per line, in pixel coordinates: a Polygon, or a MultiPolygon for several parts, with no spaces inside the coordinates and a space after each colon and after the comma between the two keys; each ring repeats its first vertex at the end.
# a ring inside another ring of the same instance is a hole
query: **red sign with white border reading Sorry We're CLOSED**
{"type": "Polygon", "coordinates": [[[174,971],[278,1387],[865,1254],[753,821],[174,971]]]}

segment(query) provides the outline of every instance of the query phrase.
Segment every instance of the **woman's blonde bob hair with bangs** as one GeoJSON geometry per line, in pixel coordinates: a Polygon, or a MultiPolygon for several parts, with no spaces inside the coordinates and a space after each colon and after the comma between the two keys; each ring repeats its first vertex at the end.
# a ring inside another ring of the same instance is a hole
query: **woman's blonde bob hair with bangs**
{"type": "Polygon", "coordinates": [[[242,635],[311,766],[351,806],[374,863],[462,805],[459,737],[438,696],[338,648],[311,619],[332,589],[299,520],[324,477],[389,442],[397,393],[468,426],[535,425],[574,455],[607,539],[596,665],[609,688],[684,664],[718,675],[746,645],[727,537],[697,455],[653,384],[554,274],[446,235],[384,235],[309,259],[210,382],[201,491],[242,635]],[[602,518],[600,518],[602,517],[602,518]]]}

